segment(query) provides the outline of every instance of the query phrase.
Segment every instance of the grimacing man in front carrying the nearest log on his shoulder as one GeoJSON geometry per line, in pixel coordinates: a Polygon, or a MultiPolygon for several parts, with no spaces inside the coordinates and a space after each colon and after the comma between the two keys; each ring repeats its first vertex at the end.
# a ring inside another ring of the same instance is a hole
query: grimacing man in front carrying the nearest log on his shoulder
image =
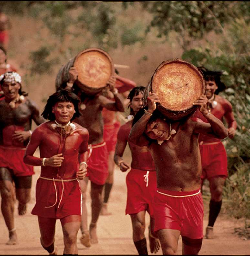
{"type": "Polygon", "coordinates": [[[129,141],[146,146],[153,157],[157,173],[154,197],[155,231],[163,254],[176,254],[182,236],[183,254],[198,254],[203,239],[203,201],[200,192],[201,158],[199,134],[223,139],[227,129],[206,108],[201,95],[193,105],[200,106],[208,123],[198,118],[171,122],[156,110],[160,100],[149,92],[148,109],[134,118],[129,141]]]}

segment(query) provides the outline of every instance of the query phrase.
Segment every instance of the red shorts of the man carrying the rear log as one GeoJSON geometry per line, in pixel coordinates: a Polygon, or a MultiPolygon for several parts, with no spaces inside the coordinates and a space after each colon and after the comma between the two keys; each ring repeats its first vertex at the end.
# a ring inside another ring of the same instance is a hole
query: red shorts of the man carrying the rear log
{"type": "Polygon", "coordinates": [[[97,185],[105,184],[108,172],[108,151],[105,142],[89,146],[87,177],[97,185]],[[92,149],[91,149],[92,147],[92,149]]]}

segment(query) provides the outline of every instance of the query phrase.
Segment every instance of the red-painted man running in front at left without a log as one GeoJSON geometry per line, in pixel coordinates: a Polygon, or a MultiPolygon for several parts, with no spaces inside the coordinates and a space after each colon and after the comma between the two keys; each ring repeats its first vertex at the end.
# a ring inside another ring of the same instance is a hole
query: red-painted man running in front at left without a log
{"type": "Polygon", "coordinates": [[[27,145],[24,162],[41,166],[36,183],[36,204],[41,245],[49,254],[54,246],[56,220],[63,230],[63,254],[78,254],[77,233],[81,224],[81,190],[78,179],[87,174],[88,139],[86,128],[72,122],[80,116],[78,97],[71,90],[52,94],[42,116],[50,121],[39,125],[27,145]],[[39,147],[40,157],[33,154],[39,147]]]}

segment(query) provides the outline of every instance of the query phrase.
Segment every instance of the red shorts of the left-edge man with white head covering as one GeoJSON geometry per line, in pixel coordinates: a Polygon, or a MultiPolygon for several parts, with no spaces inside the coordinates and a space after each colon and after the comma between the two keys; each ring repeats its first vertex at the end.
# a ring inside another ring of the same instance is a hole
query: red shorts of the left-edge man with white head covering
{"type": "Polygon", "coordinates": [[[31,176],[33,166],[23,161],[25,148],[0,146],[0,167],[12,169],[14,176],[31,176]]]}

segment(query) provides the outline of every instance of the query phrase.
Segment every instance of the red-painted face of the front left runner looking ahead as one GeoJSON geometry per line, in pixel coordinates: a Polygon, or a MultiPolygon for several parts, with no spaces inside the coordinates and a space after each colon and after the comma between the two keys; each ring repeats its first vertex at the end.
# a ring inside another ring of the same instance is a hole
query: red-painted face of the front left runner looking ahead
{"type": "Polygon", "coordinates": [[[56,121],[60,124],[67,124],[75,112],[71,102],[57,102],[52,108],[52,113],[55,114],[56,121]]]}

